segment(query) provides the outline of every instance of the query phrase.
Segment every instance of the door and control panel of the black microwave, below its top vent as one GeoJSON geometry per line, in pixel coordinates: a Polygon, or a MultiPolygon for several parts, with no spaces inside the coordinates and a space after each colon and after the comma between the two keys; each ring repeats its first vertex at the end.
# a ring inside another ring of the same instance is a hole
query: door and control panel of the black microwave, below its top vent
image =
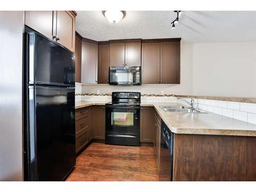
{"type": "Polygon", "coordinates": [[[140,85],[140,71],[110,70],[109,84],[126,86],[140,85]]]}

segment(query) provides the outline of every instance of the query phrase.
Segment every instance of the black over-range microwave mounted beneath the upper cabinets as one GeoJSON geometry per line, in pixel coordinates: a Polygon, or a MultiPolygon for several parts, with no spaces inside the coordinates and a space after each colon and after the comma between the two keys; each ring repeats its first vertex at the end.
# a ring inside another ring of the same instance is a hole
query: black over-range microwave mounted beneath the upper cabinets
{"type": "Polygon", "coordinates": [[[110,67],[109,84],[116,86],[140,86],[141,67],[110,67]]]}

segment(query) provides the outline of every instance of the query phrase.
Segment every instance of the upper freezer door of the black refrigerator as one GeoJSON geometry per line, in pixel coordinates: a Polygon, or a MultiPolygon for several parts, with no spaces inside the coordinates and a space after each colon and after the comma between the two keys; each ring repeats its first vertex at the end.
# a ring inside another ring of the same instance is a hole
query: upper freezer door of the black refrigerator
{"type": "Polygon", "coordinates": [[[27,33],[28,84],[75,87],[75,55],[36,32],[27,33]]]}

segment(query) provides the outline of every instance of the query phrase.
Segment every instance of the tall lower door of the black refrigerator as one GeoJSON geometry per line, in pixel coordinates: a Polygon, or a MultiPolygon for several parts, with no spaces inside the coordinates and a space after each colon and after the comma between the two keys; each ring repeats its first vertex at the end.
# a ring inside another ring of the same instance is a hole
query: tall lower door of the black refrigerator
{"type": "Polygon", "coordinates": [[[29,86],[26,180],[61,181],[75,166],[74,89],[29,86]]]}

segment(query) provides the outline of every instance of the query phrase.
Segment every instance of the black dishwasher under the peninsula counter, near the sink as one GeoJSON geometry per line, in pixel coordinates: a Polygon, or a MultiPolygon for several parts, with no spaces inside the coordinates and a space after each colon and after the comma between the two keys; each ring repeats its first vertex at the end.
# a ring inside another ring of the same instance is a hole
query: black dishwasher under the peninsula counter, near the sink
{"type": "Polygon", "coordinates": [[[159,181],[173,181],[174,133],[161,119],[159,181]]]}

